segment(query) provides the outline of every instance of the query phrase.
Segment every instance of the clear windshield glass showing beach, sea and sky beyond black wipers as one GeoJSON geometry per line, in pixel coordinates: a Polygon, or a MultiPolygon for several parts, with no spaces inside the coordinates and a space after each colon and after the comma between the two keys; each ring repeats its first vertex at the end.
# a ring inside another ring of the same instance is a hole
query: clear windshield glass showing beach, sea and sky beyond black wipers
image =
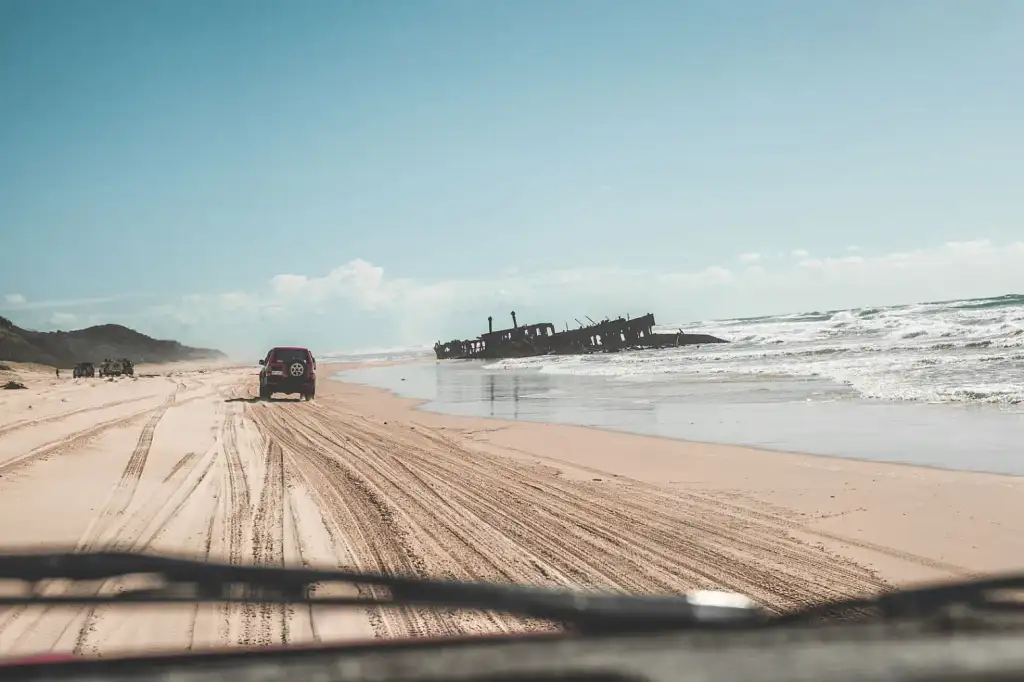
{"type": "MultiPolygon", "coordinates": [[[[4,0],[0,550],[1024,568],[1024,5],[787,7],[4,0]]],[[[18,605],[0,656],[552,628],[18,605]]]]}

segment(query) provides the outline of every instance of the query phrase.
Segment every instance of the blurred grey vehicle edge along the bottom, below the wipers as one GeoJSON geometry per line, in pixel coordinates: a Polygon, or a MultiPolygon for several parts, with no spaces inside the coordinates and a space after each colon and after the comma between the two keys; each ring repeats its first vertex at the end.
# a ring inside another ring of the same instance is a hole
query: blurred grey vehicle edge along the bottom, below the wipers
{"type": "Polygon", "coordinates": [[[828,625],[742,632],[677,631],[579,637],[412,639],[337,647],[12,666],[0,679],[77,682],[573,682],[1024,679],[1018,627],[983,630],[916,623],[828,625]]]}

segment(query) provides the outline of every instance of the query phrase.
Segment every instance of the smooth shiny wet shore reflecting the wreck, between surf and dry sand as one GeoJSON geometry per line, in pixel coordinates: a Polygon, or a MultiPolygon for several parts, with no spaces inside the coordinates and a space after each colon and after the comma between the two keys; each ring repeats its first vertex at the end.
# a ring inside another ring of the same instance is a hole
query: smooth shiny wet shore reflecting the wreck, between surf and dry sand
{"type": "Polygon", "coordinates": [[[486,369],[434,360],[362,365],[343,381],[423,399],[462,417],[593,426],[677,440],[1024,475],[1024,410],[858,396],[821,378],[655,381],[486,369]]]}

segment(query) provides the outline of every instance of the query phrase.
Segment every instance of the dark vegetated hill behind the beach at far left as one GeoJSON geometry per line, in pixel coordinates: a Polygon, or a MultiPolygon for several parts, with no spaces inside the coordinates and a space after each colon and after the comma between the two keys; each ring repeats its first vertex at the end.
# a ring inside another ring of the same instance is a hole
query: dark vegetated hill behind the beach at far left
{"type": "Polygon", "coordinates": [[[30,332],[0,317],[0,360],[70,368],[77,363],[99,363],[104,357],[127,357],[139,364],[227,356],[211,348],[191,348],[177,341],[154,339],[121,325],[99,325],[74,332],[30,332]]]}

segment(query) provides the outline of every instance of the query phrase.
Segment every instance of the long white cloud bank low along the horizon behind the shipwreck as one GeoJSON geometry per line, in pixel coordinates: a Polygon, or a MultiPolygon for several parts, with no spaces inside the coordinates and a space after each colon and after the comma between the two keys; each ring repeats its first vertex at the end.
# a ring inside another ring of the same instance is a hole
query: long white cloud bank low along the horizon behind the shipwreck
{"type": "MultiPolygon", "coordinates": [[[[915,251],[748,261],[691,271],[621,266],[506,269],[492,276],[421,281],[354,259],[327,273],[283,273],[249,291],[122,306],[119,322],[186,343],[261,349],[266,343],[367,347],[474,336],[486,316],[550,319],[654,312],[666,323],[1024,292],[1024,242],[950,242],[915,251]],[[317,340],[318,339],[318,340],[317,340]]],[[[65,308],[67,309],[67,308],[65,308]]],[[[54,315],[55,319],[55,315],[54,315]]],[[[48,317],[38,324],[55,324],[48,317]]]]}

